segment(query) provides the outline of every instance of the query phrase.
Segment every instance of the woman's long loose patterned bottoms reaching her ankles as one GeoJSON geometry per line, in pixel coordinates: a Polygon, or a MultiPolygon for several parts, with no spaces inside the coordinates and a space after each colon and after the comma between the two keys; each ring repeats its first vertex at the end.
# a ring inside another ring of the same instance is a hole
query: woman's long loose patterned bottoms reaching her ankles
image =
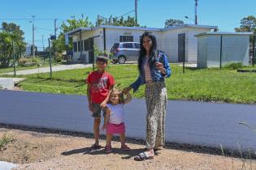
{"type": "Polygon", "coordinates": [[[146,147],[164,146],[167,88],[163,82],[146,83],[146,147]]]}

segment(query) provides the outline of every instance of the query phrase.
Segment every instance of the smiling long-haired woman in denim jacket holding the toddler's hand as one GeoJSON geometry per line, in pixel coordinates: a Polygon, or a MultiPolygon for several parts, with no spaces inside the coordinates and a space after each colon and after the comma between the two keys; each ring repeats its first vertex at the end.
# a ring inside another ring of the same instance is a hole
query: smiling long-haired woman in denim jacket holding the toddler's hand
{"type": "Polygon", "coordinates": [[[146,114],[146,151],[138,154],[135,160],[153,159],[154,149],[164,145],[164,125],[167,104],[167,89],[164,78],[171,76],[167,56],[157,51],[156,38],[152,32],[141,36],[141,52],[138,59],[139,77],[125,92],[137,91],[145,84],[146,114]]]}

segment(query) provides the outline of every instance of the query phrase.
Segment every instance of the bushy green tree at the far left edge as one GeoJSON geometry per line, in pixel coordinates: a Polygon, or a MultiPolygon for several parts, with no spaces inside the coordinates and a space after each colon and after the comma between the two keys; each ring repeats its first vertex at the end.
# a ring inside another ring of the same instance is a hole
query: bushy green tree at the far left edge
{"type": "Polygon", "coordinates": [[[21,57],[26,51],[24,32],[15,23],[2,23],[0,32],[0,63],[9,66],[13,55],[12,45],[15,47],[15,55],[21,57]]]}

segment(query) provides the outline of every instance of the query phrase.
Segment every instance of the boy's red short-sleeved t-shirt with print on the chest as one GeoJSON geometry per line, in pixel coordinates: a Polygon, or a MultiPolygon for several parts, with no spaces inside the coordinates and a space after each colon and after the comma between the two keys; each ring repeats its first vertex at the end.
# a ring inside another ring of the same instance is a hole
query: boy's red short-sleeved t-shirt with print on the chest
{"type": "Polygon", "coordinates": [[[91,101],[94,104],[100,104],[106,99],[111,86],[115,84],[114,78],[111,74],[98,73],[93,71],[88,75],[87,83],[91,84],[91,101]]]}

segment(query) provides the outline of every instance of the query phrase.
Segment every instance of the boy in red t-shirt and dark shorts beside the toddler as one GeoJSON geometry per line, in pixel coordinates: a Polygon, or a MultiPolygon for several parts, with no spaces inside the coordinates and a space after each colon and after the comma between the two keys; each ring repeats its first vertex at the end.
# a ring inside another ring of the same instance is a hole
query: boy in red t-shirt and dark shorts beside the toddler
{"type": "Polygon", "coordinates": [[[92,150],[101,148],[98,142],[101,111],[103,111],[103,116],[105,117],[106,112],[105,109],[102,109],[102,107],[106,106],[111,88],[115,84],[112,75],[107,73],[105,70],[107,66],[107,58],[97,57],[96,65],[98,70],[91,72],[87,78],[89,110],[92,112],[92,117],[94,117],[93,134],[95,143],[91,147],[92,150]]]}

